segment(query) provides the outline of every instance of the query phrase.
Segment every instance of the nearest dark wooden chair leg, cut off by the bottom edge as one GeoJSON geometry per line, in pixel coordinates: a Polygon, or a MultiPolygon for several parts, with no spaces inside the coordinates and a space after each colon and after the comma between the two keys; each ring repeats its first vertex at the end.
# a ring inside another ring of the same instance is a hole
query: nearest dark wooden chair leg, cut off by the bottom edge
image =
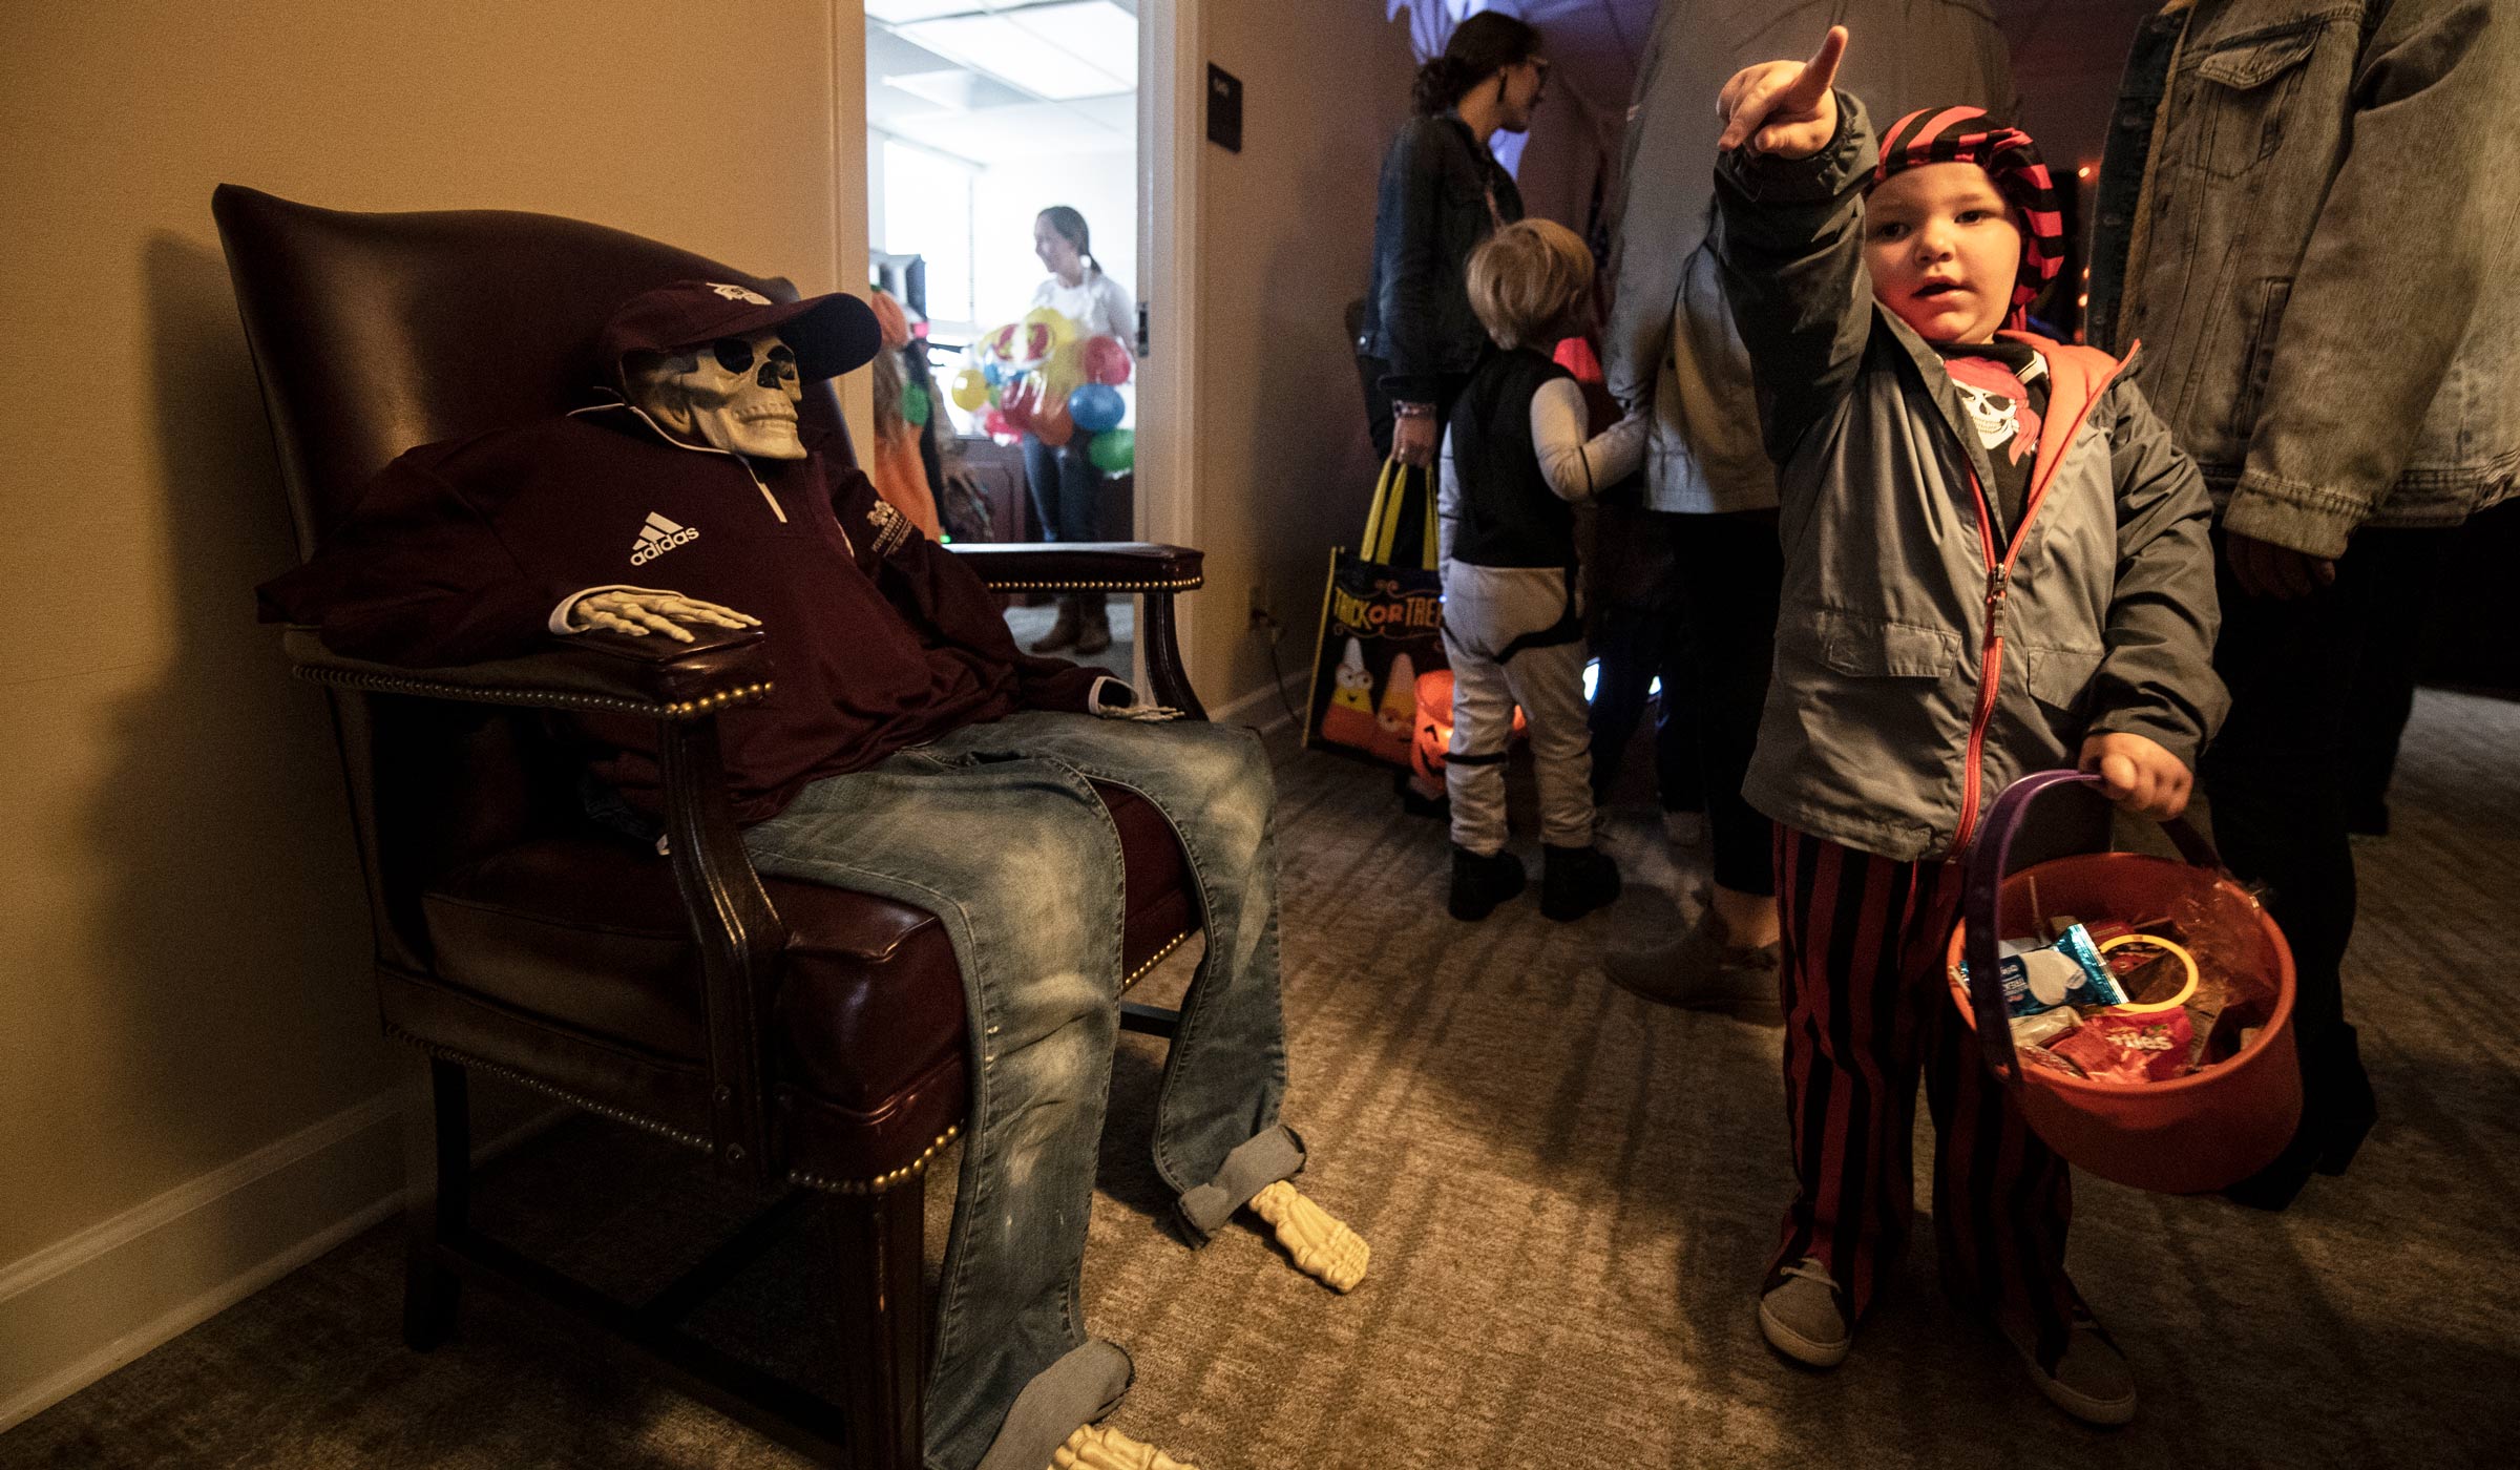
{"type": "Polygon", "coordinates": [[[842,1407],[852,1470],[920,1470],[927,1409],[927,1208],[917,1178],[829,1210],[839,1256],[842,1407]]]}

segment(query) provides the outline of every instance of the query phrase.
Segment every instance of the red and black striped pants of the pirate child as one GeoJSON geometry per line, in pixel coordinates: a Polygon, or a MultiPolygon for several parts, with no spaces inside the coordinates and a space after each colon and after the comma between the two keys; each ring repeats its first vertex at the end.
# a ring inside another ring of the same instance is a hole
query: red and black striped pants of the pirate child
{"type": "Polygon", "coordinates": [[[1976,1054],[1943,981],[1958,862],[1890,862],[1777,825],[1784,923],[1784,1114],[1794,1208],[1769,1268],[1817,1256],[1847,1319],[1898,1266],[1915,1208],[1915,1082],[1933,1109],[1933,1233],[1943,1291],[2061,1349],[2066,1165],[1976,1054]]]}

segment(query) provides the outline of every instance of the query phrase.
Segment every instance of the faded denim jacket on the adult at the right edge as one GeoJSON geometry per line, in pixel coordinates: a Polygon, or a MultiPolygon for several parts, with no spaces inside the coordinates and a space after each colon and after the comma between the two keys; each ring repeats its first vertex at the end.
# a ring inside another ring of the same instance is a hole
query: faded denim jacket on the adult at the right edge
{"type": "Polygon", "coordinates": [[[2142,28],[2092,340],[2152,343],[2145,388],[2228,530],[2334,557],[2512,494],[2515,159],[2512,0],[2197,0],[2142,28]]]}

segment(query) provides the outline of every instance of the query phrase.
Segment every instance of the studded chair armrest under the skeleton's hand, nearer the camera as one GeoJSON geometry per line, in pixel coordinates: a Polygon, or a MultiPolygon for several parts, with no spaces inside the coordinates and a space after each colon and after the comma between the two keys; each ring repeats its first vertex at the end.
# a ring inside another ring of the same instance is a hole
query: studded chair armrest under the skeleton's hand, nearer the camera
{"type": "Polygon", "coordinates": [[[769,643],[759,628],[693,628],[690,643],[577,633],[522,658],[449,668],[406,668],[348,658],[323,645],[312,628],[282,633],[292,673],[312,683],[368,693],[411,693],[527,709],[590,709],[696,719],[771,691],[769,643]]]}

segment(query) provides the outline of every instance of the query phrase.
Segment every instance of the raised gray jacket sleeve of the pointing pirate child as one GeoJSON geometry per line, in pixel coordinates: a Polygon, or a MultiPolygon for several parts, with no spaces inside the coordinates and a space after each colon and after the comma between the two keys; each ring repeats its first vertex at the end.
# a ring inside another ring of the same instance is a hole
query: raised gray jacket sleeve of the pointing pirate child
{"type": "Polygon", "coordinates": [[[1837,136],[1809,159],[1716,159],[1714,250],[1777,464],[1847,396],[1872,340],[1862,182],[1875,156],[1865,103],[1840,91],[1837,136]]]}

